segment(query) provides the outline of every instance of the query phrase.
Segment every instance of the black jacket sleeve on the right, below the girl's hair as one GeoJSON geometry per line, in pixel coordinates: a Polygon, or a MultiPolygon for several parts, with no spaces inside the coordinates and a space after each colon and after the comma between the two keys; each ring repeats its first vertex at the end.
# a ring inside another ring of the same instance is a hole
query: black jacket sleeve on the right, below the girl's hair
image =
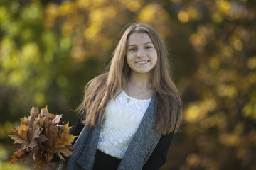
{"type": "Polygon", "coordinates": [[[146,164],[144,164],[144,170],[160,169],[160,167],[165,164],[167,152],[169,150],[169,146],[171,145],[173,135],[174,133],[172,132],[167,135],[161,136],[154,151],[150,155],[149,159],[146,161],[146,164]]]}

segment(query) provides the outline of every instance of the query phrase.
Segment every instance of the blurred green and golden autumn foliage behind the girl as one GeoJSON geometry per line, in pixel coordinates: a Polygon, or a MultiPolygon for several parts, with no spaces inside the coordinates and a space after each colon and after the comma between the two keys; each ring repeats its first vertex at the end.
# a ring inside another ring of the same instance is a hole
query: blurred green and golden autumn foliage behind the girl
{"type": "MultiPolygon", "coordinates": [[[[74,125],[87,81],[105,71],[127,23],[166,42],[185,105],[162,169],[256,169],[256,1],[1,0],[0,169],[32,106],[74,125]]],[[[16,163],[18,164],[18,163],[16,163]]],[[[23,168],[24,169],[24,168],[23,168]]]]}

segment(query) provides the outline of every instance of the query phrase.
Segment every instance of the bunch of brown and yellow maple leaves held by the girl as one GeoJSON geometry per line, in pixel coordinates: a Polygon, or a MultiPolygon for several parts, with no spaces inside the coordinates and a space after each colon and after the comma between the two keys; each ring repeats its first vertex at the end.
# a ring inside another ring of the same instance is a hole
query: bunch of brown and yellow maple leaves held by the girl
{"type": "Polygon", "coordinates": [[[18,159],[25,160],[33,154],[33,160],[38,169],[43,165],[52,166],[50,160],[54,154],[58,154],[60,159],[68,157],[73,152],[73,142],[75,136],[69,134],[68,123],[60,121],[62,115],[54,115],[48,112],[46,108],[41,109],[33,107],[28,118],[21,118],[21,125],[13,128],[14,135],[9,135],[14,141],[13,147],[16,152],[11,156],[11,164],[18,159]]]}

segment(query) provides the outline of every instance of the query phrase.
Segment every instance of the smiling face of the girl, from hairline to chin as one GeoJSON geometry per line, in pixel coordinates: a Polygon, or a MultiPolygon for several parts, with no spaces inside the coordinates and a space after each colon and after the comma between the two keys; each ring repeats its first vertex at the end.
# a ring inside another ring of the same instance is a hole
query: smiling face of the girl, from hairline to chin
{"type": "Polygon", "coordinates": [[[128,38],[127,63],[132,73],[151,73],[157,62],[157,52],[147,33],[132,33],[128,38]]]}

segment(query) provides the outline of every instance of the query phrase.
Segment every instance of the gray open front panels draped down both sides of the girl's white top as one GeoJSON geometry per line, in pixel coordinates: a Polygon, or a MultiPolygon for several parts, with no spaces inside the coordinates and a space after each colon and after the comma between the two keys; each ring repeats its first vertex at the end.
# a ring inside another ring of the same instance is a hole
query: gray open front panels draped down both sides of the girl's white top
{"type": "MultiPolygon", "coordinates": [[[[118,166],[118,170],[142,169],[159,142],[161,134],[156,133],[153,130],[155,121],[154,103],[155,97],[151,99],[149,107],[139,124],[139,128],[135,132],[132,141],[129,143],[127,152],[125,152],[124,157],[118,166]]],[[[69,157],[68,161],[61,162],[57,169],[93,169],[97,142],[100,137],[100,129],[100,125],[97,125],[96,128],[85,125],[78,140],[75,142],[73,155],[69,157]]]]}

